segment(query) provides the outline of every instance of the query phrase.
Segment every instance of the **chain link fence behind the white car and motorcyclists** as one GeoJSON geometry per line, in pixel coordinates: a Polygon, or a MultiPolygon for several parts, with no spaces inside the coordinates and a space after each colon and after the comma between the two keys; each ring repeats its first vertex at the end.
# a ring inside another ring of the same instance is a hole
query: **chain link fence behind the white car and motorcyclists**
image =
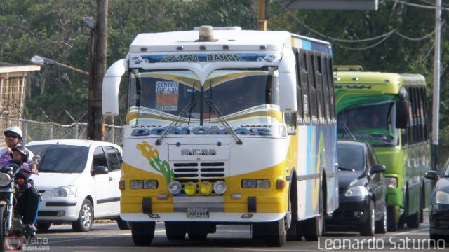
{"type": "MultiPolygon", "coordinates": [[[[18,126],[22,129],[22,144],[30,141],[50,140],[50,139],[87,139],[87,123],[72,123],[61,125],[53,122],[38,122],[34,120],[9,118],[0,116],[1,130],[11,126],[18,126]]],[[[105,141],[121,145],[123,127],[105,124],[105,141]]],[[[6,146],[4,141],[0,141],[0,146],[6,146]]]]}

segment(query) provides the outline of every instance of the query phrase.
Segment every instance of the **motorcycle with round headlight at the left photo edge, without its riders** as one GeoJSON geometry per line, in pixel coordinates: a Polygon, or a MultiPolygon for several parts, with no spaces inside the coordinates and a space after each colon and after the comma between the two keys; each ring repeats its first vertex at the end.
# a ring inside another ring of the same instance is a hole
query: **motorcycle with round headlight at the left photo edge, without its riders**
{"type": "MultiPolygon", "coordinates": [[[[32,163],[39,164],[41,157],[34,155],[32,163]]],[[[32,183],[20,172],[29,170],[11,164],[0,167],[0,251],[17,250],[22,246],[22,237],[30,235],[22,231],[22,216],[18,202],[22,197],[22,189],[32,183]]]]}

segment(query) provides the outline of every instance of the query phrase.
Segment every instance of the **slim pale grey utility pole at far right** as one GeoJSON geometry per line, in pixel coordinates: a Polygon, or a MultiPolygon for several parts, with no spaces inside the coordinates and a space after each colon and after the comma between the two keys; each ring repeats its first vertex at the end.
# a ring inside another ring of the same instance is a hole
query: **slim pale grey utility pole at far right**
{"type": "Polygon", "coordinates": [[[434,50],[434,101],[432,104],[432,169],[438,169],[438,130],[440,113],[440,47],[441,47],[441,0],[435,8],[435,50],[434,50]]]}

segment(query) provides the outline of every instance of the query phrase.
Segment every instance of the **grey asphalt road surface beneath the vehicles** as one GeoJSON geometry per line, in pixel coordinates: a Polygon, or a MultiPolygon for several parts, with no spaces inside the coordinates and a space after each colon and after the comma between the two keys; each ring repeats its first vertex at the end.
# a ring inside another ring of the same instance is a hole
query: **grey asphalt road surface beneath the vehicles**
{"type": "Polygon", "coordinates": [[[445,251],[442,244],[429,248],[429,222],[417,229],[404,228],[374,237],[361,237],[356,230],[328,229],[317,241],[288,241],[282,248],[269,248],[253,241],[249,225],[220,225],[206,241],[169,241],[162,222],[156,223],[152,246],[134,246],[130,230],[119,230],[116,223],[95,223],[90,232],[73,232],[70,225],[52,225],[38,239],[24,244],[27,251],[445,251]]]}

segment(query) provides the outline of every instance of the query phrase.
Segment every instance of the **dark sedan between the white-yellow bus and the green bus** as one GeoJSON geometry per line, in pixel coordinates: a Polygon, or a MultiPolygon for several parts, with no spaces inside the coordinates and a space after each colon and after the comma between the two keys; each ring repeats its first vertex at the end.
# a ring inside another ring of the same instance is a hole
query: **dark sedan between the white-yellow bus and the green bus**
{"type": "Polygon", "coordinates": [[[373,148],[358,141],[338,141],[339,207],[326,225],[357,225],[361,235],[387,232],[387,190],[384,165],[373,148]]]}

